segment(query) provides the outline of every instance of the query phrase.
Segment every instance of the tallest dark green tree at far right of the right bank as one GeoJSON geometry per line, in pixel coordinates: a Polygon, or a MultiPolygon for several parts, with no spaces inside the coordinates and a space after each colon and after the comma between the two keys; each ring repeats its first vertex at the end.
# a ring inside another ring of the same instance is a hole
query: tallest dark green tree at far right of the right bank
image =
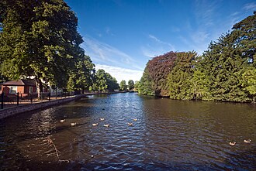
{"type": "Polygon", "coordinates": [[[197,70],[209,79],[209,100],[253,101],[253,91],[247,91],[249,84],[244,84],[244,78],[240,76],[255,68],[255,41],[254,12],[254,15],[235,24],[232,32],[210,43],[197,65],[197,70]]]}

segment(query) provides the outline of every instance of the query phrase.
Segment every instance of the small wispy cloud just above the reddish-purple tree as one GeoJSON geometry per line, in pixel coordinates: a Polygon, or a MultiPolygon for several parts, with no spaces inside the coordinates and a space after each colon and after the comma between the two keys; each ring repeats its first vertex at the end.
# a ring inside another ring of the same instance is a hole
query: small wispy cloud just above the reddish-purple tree
{"type": "Polygon", "coordinates": [[[158,39],[152,34],[148,35],[148,38],[153,40],[153,42],[140,48],[144,56],[152,58],[169,51],[175,51],[175,46],[173,46],[171,43],[161,41],[161,39],[158,39]]]}

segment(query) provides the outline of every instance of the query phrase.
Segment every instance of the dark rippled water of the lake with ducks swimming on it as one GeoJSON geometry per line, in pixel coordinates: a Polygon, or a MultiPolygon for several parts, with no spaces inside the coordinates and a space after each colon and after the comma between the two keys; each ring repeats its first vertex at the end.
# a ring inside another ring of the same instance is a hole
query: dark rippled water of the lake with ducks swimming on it
{"type": "Polygon", "coordinates": [[[0,126],[1,170],[256,169],[254,104],[94,95],[0,126]]]}

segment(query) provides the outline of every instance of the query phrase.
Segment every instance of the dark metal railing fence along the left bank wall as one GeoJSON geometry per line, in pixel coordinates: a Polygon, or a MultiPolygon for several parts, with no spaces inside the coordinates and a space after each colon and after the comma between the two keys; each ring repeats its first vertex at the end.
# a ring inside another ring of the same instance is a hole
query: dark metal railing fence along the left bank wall
{"type": "Polygon", "coordinates": [[[5,95],[4,93],[2,93],[0,97],[0,103],[1,109],[3,109],[24,104],[39,103],[42,101],[54,101],[57,99],[74,96],[74,94],[75,92],[59,92],[54,94],[50,92],[44,92],[40,94],[40,97],[38,97],[38,94],[17,93],[5,95]]]}

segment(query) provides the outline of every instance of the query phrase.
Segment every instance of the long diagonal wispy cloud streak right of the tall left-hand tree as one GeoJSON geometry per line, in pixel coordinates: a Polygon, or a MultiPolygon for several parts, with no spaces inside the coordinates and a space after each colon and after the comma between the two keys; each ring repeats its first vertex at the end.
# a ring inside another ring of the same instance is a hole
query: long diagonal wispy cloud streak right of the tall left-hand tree
{"type": "Polygon", "coordinates": [[[107,65],[111,63],[114,66],[142,70],[142,68],[137,65],[137,61],[123,51],[118,50],[107,43],[102,43],[91,36],[85,36],[84,41],[85,42],[81,44],[81,47],[85,49],[85,52],[89,56],[91,56],[94,63],[107,65]]]}

